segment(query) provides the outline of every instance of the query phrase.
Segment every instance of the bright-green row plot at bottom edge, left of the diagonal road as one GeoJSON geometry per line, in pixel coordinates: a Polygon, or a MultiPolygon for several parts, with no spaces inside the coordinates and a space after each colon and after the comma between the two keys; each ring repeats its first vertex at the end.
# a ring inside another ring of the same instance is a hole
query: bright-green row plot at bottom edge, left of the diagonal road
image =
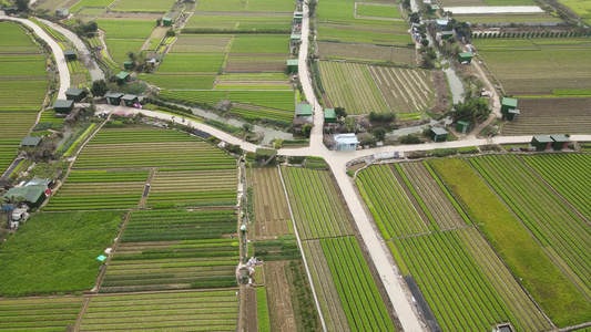
{"type": "Polygon", "coordinates": [[[395,331],[355,238],[320,239],[320,245],[351,330],[395,331]]]}

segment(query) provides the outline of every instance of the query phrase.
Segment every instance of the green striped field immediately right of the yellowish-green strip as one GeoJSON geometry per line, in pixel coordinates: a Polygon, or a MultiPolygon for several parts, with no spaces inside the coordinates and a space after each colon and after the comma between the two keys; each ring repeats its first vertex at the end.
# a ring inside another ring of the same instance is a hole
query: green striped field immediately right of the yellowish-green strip
{"type": "Polygon", "coordinates": [[[591,228],[552,193],[517,156],[469,159],[500,197],[548,250],[564,260],[590,293],[591,228]]]}

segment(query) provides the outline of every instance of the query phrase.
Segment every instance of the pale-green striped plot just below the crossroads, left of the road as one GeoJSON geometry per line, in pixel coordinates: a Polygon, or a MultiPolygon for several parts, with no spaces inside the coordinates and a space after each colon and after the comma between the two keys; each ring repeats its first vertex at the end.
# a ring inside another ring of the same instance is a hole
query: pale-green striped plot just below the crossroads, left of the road
{"type": "Polygon", "coordinates": [[[302,239],[353,234],[349,217],[327,170],[282,167],[302,239]]]}

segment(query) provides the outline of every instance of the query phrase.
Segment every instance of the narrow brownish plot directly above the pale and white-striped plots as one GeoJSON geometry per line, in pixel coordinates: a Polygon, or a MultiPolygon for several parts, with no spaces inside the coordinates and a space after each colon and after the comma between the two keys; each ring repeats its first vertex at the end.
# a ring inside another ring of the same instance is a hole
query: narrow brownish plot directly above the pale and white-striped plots
{"type": "Polygon", "coordinates": [[[417,64],[417,53],[415,50],[385,45],[359,45],[319,41],[318,55],[323,59],[335,60],[370,60],[417,64]]]}

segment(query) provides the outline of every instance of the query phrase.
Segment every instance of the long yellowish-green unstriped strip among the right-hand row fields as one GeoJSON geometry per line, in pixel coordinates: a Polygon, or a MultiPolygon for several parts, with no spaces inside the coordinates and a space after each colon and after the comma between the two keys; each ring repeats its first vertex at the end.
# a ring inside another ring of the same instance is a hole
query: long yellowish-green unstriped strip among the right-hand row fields
{"type": "Polygon", "coordinates": [[[589,300],[553,262],[556,257],[549,257],[468,163],[454,158],[429,164],[553,323],[565,326],[591,319],[589,300]]]}

